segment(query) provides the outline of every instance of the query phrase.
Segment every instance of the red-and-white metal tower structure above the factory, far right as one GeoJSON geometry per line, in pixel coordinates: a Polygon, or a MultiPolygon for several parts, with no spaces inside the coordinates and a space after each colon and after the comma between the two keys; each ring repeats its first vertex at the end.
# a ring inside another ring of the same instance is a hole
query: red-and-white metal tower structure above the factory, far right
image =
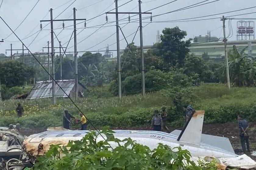
{"type": "Polygon", "coordinates": [[[237,21],[237,40],[254,39],[254,21],[237,21]]]}

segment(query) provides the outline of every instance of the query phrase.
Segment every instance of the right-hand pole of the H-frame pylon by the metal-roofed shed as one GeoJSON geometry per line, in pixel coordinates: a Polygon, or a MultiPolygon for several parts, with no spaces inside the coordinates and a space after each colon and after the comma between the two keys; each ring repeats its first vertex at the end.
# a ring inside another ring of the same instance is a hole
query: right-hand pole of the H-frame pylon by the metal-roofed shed
{"type": "Polygon", "coordinates": [[[75,57],[75,99],[78,99],[78,65],[77,65],[77,43],[76,43],[76,8],[73,8],[74,16],[74,57],[75,57]]]}

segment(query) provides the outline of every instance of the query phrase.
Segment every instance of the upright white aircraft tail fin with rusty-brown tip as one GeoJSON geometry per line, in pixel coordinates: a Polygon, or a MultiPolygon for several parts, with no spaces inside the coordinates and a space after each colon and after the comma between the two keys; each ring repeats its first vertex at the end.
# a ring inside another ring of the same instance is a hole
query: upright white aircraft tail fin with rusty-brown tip
{"type": "Polygon", "coordinates": [[[185,124],[178,141],[200,145],[204,123],[204,110],[195,111],[185,124]]]}

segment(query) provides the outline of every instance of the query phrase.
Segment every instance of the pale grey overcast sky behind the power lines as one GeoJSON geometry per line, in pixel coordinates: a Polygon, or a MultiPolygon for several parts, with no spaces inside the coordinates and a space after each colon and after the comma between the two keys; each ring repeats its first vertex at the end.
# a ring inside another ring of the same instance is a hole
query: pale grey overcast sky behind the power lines
{"type": "MultiPolygon", "coordinates": [[[[2,0],[0,0],[1,2],[2,0]]],[[[50,8],[53,8],[53,17],[55,18],[57,15],[59,15],[60,12],[62,12],[70,3],[73,1],[70,0],[40,0],[34,10],[30,13],[28,18],[20,25],[20,27],[16,30],[17,35],[24,39],[27,36],[32,35],[33,33],[37,32],[39,30],[39,24],[40,20],[44,19],[50,19],[50,13],[48,12],[50,8]],[[67,3],[68,2],[68,3],[67,3]],[[65,4],[66,3],[66,4],[65,4]],[[65,5],[63,5],[65,4],[65,5]],[[59,7],[60,5],[63,5],[59,7]],[[57,8],[59,7],[59,8],[57,8]],[[57,8],[57,9],[56,9],[57,8]]],[[[120,0],[119,5],[128,2],[129,0],[120,0]]],[[[164,12],[173,11],[176,9],[183,8],[188,5],[192,5],[194,3],[201,2],[203,0],[178,0],[176,2],[173,2],[169,5],[165,5],[161,8],[152,10],[152,15],[161,14],[164,12]]],[[[214,1],[214,0],[210,0],[214,1]]],[[[208,1],[208,2],[210,2],[208,1]]],[[[0,9],[0,15],[5,19],[5,21],[10,25],[12,29],[15,29],[20,22],[25,18],[25,16],[28,14],[28,12],[32,9],[34,4],[37,2],[37,0],[3,0],[2,7],[0,9]]],[[[142,1],[142,11],[147,11],[149,9],[153,9],[159,5],[163,5],[167,2],[170,2],[170,0],[143,0],[142,1]]],[[[213,2],[207,5],[203,5],[200,7],[187,9],[179,12],[173,12],[166,15],[161,15],[158,17],[154,17],[153,21],[166,21],[166,20],[175,20],[175,19],[185,19],[190,17],[198,17],[203,15],[211,15],[221,12],[228,12],[233,11],[237,9],[243,9],[243,8],[249,8],[253,7],[255,5],[255,0],[220,0],[217,2],[213,2]]],[[[114,0],[76,0],[65,12],[63,12],[57,19],[69,19],[73,18],[73,8],[78,9],[76,12],[76,18],[87,18],[90,19],[94,16],[97,16],[101,14],[103,11],[106,12],[110,9],[115,8],[114,0]],[[98,2],[98,3],[97,3],[98,2]],[[97,3],[97,4],[95,4],[97,3]],[[95,5],[92,5],[95,4],[95,5]],[[91,5],[91,6],[89,6],[91,5]],[[89,7],[88,7],[89,6],[89,7]],[[85,8],[86,7],[86,8],[85,8]],[[107,8],[109,7],[109,8],[107,8]]],[[[236,15],[236,14],[242,14],[242,13],[249,13],[249,12],[255,12],[255,9],[248,9],[240,12],[233,12],[229,14],[225,14],[226,16],[229,15],[236,15]]],[[[119,12],[138,12],[138,1],[133,0],[132,2],[122,6],[119,8],[119,12]],[[133,10],[132,10],[133,9],[133,10]],[[131,11],[132,10],[132,11],[131,11]]],[[[114,11],[112,11],[114,12],[114,11]]],[[[143,17],[146,17],[149,15],[143,15],[143,17]]],[[[222,15],[212,16],[212,17],[221,17],[222,15]]],[[[119,15],[119,19],[123,19],[128,17],[128,15],[119,15]]],[[[250,14],[250,15],[242,15],[238,16],[239,18],[246,17],[246,18],[256,18],[256,14],[250,14]]],[[[138,16],[134,16],[131,19],[136,19],[138,16]]],[[[109,14],[108,15],[108,24],[105,24],[104,26],[108,25],[114,25],[115,23],[110,23],[112,21],[115,21],[115,15],[109,14]]],[[[144,22],[148,22],[149,19],[145,19],[144,22]]],[[[230,38],[230,40],[236,40],[236,21],[232,21],[233,25],[233,37],[230,38]]],[[[79,21],[78,21],[79,22],[79,21]]],[[[127,21],[120,22],[126,23],[127,21]]],[[[0,21],[0,39],[5,39],[11,31],[8,29],[8,27],[0,21]]],[[[91,21],[87,22],[87,27],[91,27],[94,25],[100,25],[105,23],[105,15],[102,15],[96,19],[93,19],[91,21]]],[[[43,26],[47,24],[47,22],[42,22],[43,26]]],[[[147,23],[143,23],[143,25],[146,25],[147,23]]],[[[55,33],[58,34],[62,29],[56,29],[61,28],[62,22],[54,22],[54,28],[55,33]]],[[[73,21],[65,22],[65,25],[73,25],[73,21]]],[[[123,28],[123,32],[125,36],[130,35],[131,33],[135,32],[137,30],[139,23],[129,23],[123,28]]],[[[77,28],[83,28],[84,23],[77,25],[77,28]]],[[[121,25],[123,26],[123,25],[121,25]]],[[[187,31],[187,37],[193,38],[194,36],[198,35],[205,35],[207,34],[207,30],[211,30],[211,36],[223,36],[222,32],[222,22],[219,19],[214,20],[205,20],[205,21],[194,21],[194,22],[172,22],[172,23],[150,23],[143,29],[143,38],[144,38],[144,45],[152,45],[154,42],[156,42],[156,34],[157,31],[164,29],[165,27],[175,27],[179,26],[180,29],[187,31]]],[[[58,36],[60,41],[62,43],[65,43],[69,40],[69,37],[71,36],[73,30],[71,29],[73,27],[69,27],[69,29],[64,29],[58,36]]],[[[50,25],[46,26],[44,29],[50,29],[50,25]]],[[[87,28],[84,29],[78,36],[77,36],[77,42],[82,41],[87,36],[89,36],[91,33],[96,31],[98,28],[87,28]]],[[[80,32],[82,29],[78,29],[77,32],[80,32]]],[[[99,50],[99,49],[105,49],[104,47],[108,44],[112,44],[116,42],[116,34],[111,36],[106,41],[100,43],[99,45],[90,48],[97,44],[98,42],[101,42],[102,40],[106,39],[108,36],[113,34],[116,31],[115,26],[109,26],[104,27],[98,30],[98,32],[94,33],[92,36],[88,37],[86,40],[80,42],[77,46],[78,51],[83,51],[85,49],[88,50],[99,50]],[[90,48],[90,49],[89,49],[90,48]]],[[[228,34],[228,29],[227,29],[228,34]]],[[[27,46],[31,43],[31,41],[35,38],[37,34],[34,34],[30,38],[24,39],[24,44],[27,46]]],[[[120,32],[120,39],[122,39],[122,33],[120,32]]],[[[133,36],[130,36],[127,38],[129,42],[132,41],[133,36]]],[[[139,38],[139,32],[135,38],[135,43],[137,45],[140,44],[140,38],[139,38]]],[[[22,44],[21,42],[15,42],[18,41],[18,39],[12,35],[9,36],[7,39],[5,39],[5,42],[0,42],[0,53],[5,53],[5,49],[10,49],[10,44],[12,43],[13,49],[21,49],[22,44]],[[14,42],[13,42],[14,41],[14,42]]],[[[42,30],[39,35],[36,37],[34,42],[29,46],[29,49],[32,52],[39,52],[42,51],[42,47],[46,46],[47,41],[51,41],[50,37],[50,30],[42,30]]],[[[55,39],[54,42],[55,46],[59,46],[59,43],[55,39]]],[[[71,40],[69,44],[69,48],[67,51],[73,51],[73,40],[71,40]]],[[[65,46],[65,45],[63,45],[65,46]]],[[[120,42],[120,49],[124,49],[126,46],[125,40],[120,42]]],[[[116,44],[109,47],[111,50],[116,49],[116,44]]],[[[46,49],[45,49],[46,50],[46,49]]],[[[13,53],[16,53],[14,51],[13,53]]],[[[10,52],[7,52],[7,55],[10,55],[10,52]]],[[[81,53],[79,54],[81,55],[81,53]]],[[[116,54],[114,53],[114,56],[116,54]]]]}

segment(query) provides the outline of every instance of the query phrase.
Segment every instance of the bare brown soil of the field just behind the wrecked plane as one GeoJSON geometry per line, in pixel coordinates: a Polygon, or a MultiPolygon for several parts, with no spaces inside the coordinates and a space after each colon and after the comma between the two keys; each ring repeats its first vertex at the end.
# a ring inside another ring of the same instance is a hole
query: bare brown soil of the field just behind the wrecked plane
{"type": "MultiPolygon", "coordinates": [[[[249,124],[249,139],[250,139],[250,148],[251,151],[256,151],[256,123],[249,124]]],[[[123,130],[150,130],[149,127],[116,127],[114,129],[123,129],[123,130]]],[[[171,132],[175,129],[181,130],[181,127],[171,127],[169,131],[171,132]]],[[[30,129],[22,131],[23,135],[29,136],[30,134],[40,133],[46,131],[46,128],[41,129],[30,129]]],[[[204,124],[203,125],[203,134],[210,134],[216,136],[222,136],[229,138],[234,149],[241,148],[239,130],[237,123],[226,123],[226,124],[204,124]]],[[[256,160],[256,156],[252,156],[256,160]]]]}

